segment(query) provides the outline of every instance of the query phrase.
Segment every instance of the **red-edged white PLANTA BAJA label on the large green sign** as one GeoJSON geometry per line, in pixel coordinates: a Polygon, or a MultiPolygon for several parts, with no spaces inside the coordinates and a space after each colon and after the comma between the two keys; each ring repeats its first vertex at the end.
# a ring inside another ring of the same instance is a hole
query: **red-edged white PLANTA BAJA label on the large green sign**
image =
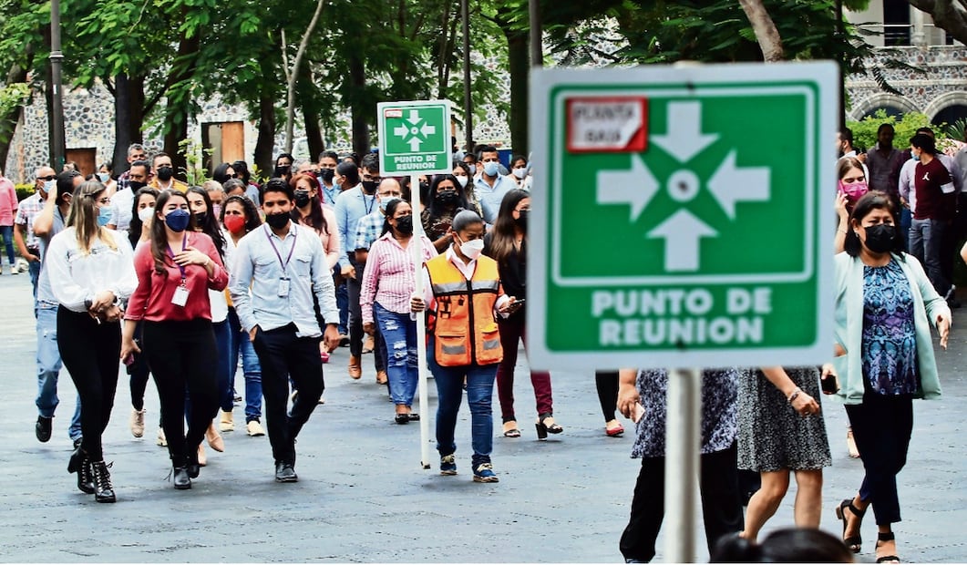
{"type": "Polygon", "coordinates": [[[646,98],[570,98],[567,106],[569,152],[635,153],[645,150],[648,138],[646,98]]]}

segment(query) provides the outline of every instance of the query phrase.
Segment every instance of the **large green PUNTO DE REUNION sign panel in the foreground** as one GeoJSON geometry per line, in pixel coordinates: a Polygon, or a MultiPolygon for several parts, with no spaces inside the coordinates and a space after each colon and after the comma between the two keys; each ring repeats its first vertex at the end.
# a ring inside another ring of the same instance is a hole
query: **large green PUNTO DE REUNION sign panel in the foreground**
{"type": "Polygon", "coordinates": [[[533,74],[534,364],[828,359],[837,79],[831,63],[533,74]]]}

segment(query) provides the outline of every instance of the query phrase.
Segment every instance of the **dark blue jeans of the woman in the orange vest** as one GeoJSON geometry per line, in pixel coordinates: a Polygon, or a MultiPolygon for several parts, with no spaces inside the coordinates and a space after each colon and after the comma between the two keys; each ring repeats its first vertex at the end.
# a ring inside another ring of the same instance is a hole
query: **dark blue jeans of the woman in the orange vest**
{"type": "Polygon", "coordinates": [[[467,403],[470,404],[470,436],[474,450],[473,466],[490,462],[493,451],[493,382],[497,364],[441,367],[433,355],[434,340],[427,343],[426,361],[436,382],[436,450],[440,456],[456,452],[454,431],[456,413],[463,400],[463,377],[467,377],[467,403]]]}

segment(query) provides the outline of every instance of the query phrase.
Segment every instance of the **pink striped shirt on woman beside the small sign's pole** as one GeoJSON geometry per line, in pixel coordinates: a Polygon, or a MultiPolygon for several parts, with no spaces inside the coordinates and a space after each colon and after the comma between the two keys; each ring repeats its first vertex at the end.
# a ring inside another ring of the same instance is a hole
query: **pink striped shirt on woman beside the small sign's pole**
{"type": "MultiPolygon", "coordinates": [[[[426,239],[425,235],[419,237],[423,242],[423,262],[425,263],[437,253],[433,243],[426,239]]],[[[404,250],[394,239],[393,234],[387,232],[369,248],[366,271],[363,273],[363,287],[360,291],[363,323],[373,321],[373,302],[378,302],[390,312],[410,312],[410,298],[417,287],[411,248],[413,244],[414,240],[411,239],[404,250]]]]}

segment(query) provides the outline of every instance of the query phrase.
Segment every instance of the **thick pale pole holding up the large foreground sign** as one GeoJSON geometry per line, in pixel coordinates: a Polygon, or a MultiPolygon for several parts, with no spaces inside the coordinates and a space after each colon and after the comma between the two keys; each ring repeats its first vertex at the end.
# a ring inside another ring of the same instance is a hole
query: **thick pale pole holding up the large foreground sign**
{"type": "Polygon", "coordinates": [[[700,370],[668,372],[664,492],[666,563],[695,561],[695,480],[701,442],[701,389],[700,370]]]}

